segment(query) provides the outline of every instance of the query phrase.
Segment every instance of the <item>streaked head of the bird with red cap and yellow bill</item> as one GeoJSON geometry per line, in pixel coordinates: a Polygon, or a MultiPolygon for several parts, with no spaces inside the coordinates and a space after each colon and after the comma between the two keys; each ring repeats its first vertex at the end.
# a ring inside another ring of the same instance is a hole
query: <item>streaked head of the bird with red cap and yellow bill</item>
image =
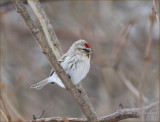
{"type": "Polygon", "coordinates": [[[84,60],[88,60],[91,57],[91,47],[85,40],[78,40],[70,48],[74,54],[84,60]]]}

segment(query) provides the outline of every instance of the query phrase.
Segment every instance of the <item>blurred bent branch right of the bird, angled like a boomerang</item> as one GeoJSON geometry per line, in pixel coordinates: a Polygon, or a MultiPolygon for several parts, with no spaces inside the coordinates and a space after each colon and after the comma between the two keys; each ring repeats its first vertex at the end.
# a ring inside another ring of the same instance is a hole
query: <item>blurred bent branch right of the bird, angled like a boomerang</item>
{"type": "MultiPolygon", "coordinates": [[[[120,37],[118,38],[118,40],[115,43],[114,49],[111,54],[111,61],[110,62],[112,63],[112,67],[113,67],[115,73],[117,74],[118,78],[131,91],[131,93],[139,99],[140,96],[139,96],[138,89],[131,83],[131,81],[129,81],[125,77],[125,75],[119,69],[120,58],[121,58],[123,50],[125,49],[124,46],[127,42],[126,37],[128,36],[128,34],[131,30],[131,27],[133,26],[134,23],[135,23],[135,19],[131,19],[126,24],[122,34],[120,35],[120,37]]],[[[145,102],[148,102],[148,99],[145,96],[143,96],[142,99],[145,102]]]]}

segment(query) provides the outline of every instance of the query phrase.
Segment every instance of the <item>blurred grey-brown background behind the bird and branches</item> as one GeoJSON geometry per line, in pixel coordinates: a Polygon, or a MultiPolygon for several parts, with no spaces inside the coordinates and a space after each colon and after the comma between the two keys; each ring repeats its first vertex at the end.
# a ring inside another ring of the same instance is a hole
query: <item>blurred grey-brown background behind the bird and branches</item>
{"type": "MultiPolygon", "coordinates": [[[[84,117],[65,89],[30,86],[48,77],[51,66],[13,4],[1,1],[1,84],[6,104],[31,120],[43,117],[84,117]]],[[[139,107],[144,63],[144,106],[159,100],[159,25],[153,25],[151,55],[145,60],[152,1],[41,1],[65,53],[85,39],[92,48],[91,68],[81,84],[99,117],[139,107]],[[129,84],[129,85],[128,85],[129,84]]],[[[25,4],[38,23],[28,4],[25,4]]],[[[159,11],[159,3],[157,9],[159,11]]],[[[5,108],[2,108],[5,109],[5,108]]],[[[11,118],[14,112],[10,112],[11,118]]],[[[14,115],[13,115],[14,116],[14,115]]],[[[130,119],[131,120],[131,119],[130,119]]],[[[135,120],[135,119],[134,119],[135,120]]]]}

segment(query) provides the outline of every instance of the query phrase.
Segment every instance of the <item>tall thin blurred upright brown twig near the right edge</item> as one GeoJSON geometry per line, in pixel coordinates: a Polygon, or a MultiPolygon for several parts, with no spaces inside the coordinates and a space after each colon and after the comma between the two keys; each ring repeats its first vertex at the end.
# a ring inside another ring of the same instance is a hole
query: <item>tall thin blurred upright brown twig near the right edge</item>
{"type": "MultiPolygon", "coordinates": [[[[154,27],[154,23],[156,21],[156,13],[157,13],[155,7],[156,7],[155,0],[153,0],[152,13],[149,15],[151,24],[150,24],[150,29],[149,29],[148,42],[147,42],[146,49],[145,49],[145,54],[144,54],[144,65],[143,65],[143,70],[142,70],[142,73],[141,73],[141,82],[140,82],[140,86],[139,86],[140,108],[143,107],[143,99],[142,99],[143,87],[144,87],[146,72],[147,72],[149,62],[150,62],[150,59],[151,59],[151,49],[152,49],[152,41],[153,41],[153,27],[154,27]]],[[[142,120],[143,120],[143,111],[141,110],[141,121],[142,120]]]]}

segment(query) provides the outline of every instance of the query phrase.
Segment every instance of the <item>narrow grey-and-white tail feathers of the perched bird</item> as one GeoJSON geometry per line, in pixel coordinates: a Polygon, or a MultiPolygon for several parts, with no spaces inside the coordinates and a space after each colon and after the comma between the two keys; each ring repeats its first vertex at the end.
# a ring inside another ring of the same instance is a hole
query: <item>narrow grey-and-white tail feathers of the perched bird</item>
{"type": "Polygon", "coordinates": [[[44,79],[44,80],[32,85],[30,88],[35,88],[37,90],[42,89],[45,85],[49,84],[48,80],[49,79],[46,78],[46,79],[44,79]]]}

